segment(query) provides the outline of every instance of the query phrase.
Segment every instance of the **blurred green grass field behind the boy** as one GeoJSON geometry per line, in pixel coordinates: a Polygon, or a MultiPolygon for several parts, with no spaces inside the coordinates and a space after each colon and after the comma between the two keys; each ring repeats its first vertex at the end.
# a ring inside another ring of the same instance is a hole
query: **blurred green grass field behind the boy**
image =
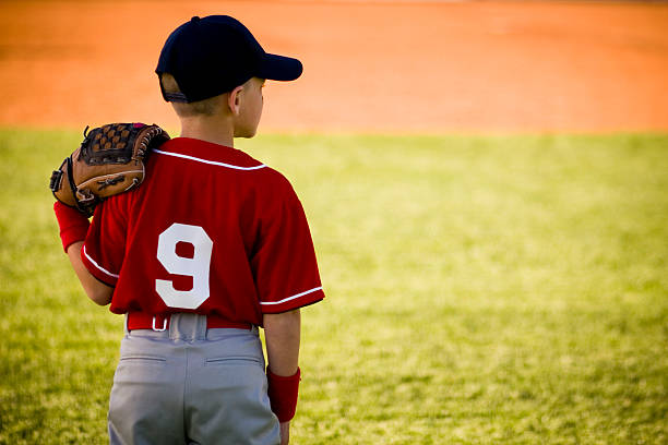
{"type": "MultiPolygon", "coordinates": [[[[102,444],[122,317],[0,131],[0,443],[102,444]]],[[[668,135],[262,135],[309,216],[295,444],[668,443],[668,135]]],[[[156,407],[158,409],[159,407],[156,407]]]]}

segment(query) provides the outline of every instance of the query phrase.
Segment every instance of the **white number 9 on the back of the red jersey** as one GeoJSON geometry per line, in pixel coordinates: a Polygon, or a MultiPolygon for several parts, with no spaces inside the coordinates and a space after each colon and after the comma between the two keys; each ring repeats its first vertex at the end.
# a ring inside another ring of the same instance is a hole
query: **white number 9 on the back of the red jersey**
{"type": "Polygon", "coordinates": [[[176,290],[165,279],[155,280],[155,290],[169,308],[198,309],[208,298],[208,270],[213,241],[200,226],[172,224],[158,238],[158,261],[168,273],[192,277],[192,289],[176,290]],[[194,246],[192,258],[179,256],[176,245],[187,242],[194,246]]]}

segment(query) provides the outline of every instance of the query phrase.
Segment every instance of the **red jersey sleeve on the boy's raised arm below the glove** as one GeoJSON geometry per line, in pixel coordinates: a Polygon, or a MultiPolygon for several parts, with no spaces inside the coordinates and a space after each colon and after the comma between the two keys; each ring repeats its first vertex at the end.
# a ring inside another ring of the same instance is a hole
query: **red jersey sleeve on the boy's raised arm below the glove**
{"type": "Polygon", "coordinates": [[[88,272],[108,286],[116,286],[126,250],[127,215],[121,195],[104,201],[95,208],[91,228],[81,250],[88,272]]]}

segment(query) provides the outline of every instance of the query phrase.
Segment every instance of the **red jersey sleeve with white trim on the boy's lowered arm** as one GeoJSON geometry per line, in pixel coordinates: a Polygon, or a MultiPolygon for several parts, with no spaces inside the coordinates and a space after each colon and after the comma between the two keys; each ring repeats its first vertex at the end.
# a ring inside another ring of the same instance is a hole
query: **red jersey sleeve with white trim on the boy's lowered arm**
{"type": "Polygon", "coordinates": [[[289,182],[267,205],[251,257],[262,313],[281,313],[324,298],[311,232],[289,182]]]}

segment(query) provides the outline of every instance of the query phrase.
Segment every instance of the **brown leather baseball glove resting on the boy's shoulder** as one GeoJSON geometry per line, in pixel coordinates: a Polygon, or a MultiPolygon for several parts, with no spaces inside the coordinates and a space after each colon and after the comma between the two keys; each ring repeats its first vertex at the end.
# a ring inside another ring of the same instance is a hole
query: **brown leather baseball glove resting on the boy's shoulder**
{"type": "Polygon", "coordinates": [[[155,124],[86,127],[81,146],[53,171],[49,187],[58,201],[91,216],[103,200],[141,184],[144,159],[168,140],[155,124]]]}

